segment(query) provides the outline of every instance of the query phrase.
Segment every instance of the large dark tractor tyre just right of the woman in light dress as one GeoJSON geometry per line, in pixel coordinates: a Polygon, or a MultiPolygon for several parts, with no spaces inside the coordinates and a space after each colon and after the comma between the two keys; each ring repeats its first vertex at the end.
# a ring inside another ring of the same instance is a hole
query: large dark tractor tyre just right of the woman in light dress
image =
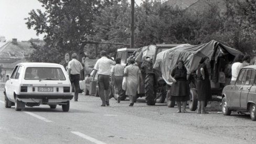
{"type": "Polygon", "coordinates": [[[146,74],[145,99],[147,105],[155,105],[156,90],[154,89],[154,74],[146,74]]]}

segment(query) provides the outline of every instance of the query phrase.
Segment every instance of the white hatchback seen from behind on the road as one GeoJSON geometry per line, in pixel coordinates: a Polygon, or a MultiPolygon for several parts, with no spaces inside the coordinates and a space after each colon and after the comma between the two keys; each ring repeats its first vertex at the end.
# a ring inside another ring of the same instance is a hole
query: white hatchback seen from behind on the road
{"type": "Polygon", "coordinates": [[[54,63],[19,63],[5,83],[5,107],[15,106],[21,111],[26,106],[47,104],[51,109],[62,106],[69,111],[72,100],[71,83],[62,65],[54,63]]]}

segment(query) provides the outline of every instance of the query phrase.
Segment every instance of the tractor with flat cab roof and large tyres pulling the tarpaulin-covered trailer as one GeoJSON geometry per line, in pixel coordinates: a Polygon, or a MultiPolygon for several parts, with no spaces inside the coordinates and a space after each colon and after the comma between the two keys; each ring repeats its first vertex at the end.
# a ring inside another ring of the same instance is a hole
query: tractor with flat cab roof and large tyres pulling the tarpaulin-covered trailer
{"type": "MultiPolygon", "coordinates": [[[[164,103],[167,93],[167,84],[161,75],[156,74],[153,69],[156,55],[162,51],[172,49],[180,44],[156,44],[141,47],[136,51],[135,62],[142,72],[144,93],[138,94],[139,97],[145,96],[147,105],[155,105],[156,102],[164,103]]],[[[142,90],[143,91],[143,90],[142,90]]],[[[175,104],[168,102],[167,104],[175,104]]]]}

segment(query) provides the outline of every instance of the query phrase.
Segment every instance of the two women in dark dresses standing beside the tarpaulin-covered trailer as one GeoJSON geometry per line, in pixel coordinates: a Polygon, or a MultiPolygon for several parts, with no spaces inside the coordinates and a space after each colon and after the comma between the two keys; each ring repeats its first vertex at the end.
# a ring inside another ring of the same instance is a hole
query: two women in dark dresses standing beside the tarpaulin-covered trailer
{"type": "MultiPolygon", "coordinates": [[[[205,103],[211,98],[209,72],[206,66],[209,62],[210,59],[208,57],[202,58],[197,69],[197,113],[201,114],[208,113],[205,111],[205,103]]],[[[178,113],[186,113],[187,101],[190,100],[190,88],[188,85],[189,75],[187,74],[187,69],[182,60],[178,60],[176,65],[177,67],[170,73],[169,80],[173,81],[172,87],[170,87],[170,100],[176,101],[178,113]]]]}

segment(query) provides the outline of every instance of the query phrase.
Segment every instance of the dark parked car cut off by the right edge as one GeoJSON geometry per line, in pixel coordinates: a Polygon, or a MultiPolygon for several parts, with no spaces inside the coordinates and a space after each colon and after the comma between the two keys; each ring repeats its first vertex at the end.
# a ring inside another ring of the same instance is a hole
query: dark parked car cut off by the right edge
{"type": "Polygon", "coordinates": [[[224,87],[222,92],[223,115],[232,111],[250,113],[252,121],[256,121],[256,65],[247,66],[240,70],[234,85],[224,87]]]}

